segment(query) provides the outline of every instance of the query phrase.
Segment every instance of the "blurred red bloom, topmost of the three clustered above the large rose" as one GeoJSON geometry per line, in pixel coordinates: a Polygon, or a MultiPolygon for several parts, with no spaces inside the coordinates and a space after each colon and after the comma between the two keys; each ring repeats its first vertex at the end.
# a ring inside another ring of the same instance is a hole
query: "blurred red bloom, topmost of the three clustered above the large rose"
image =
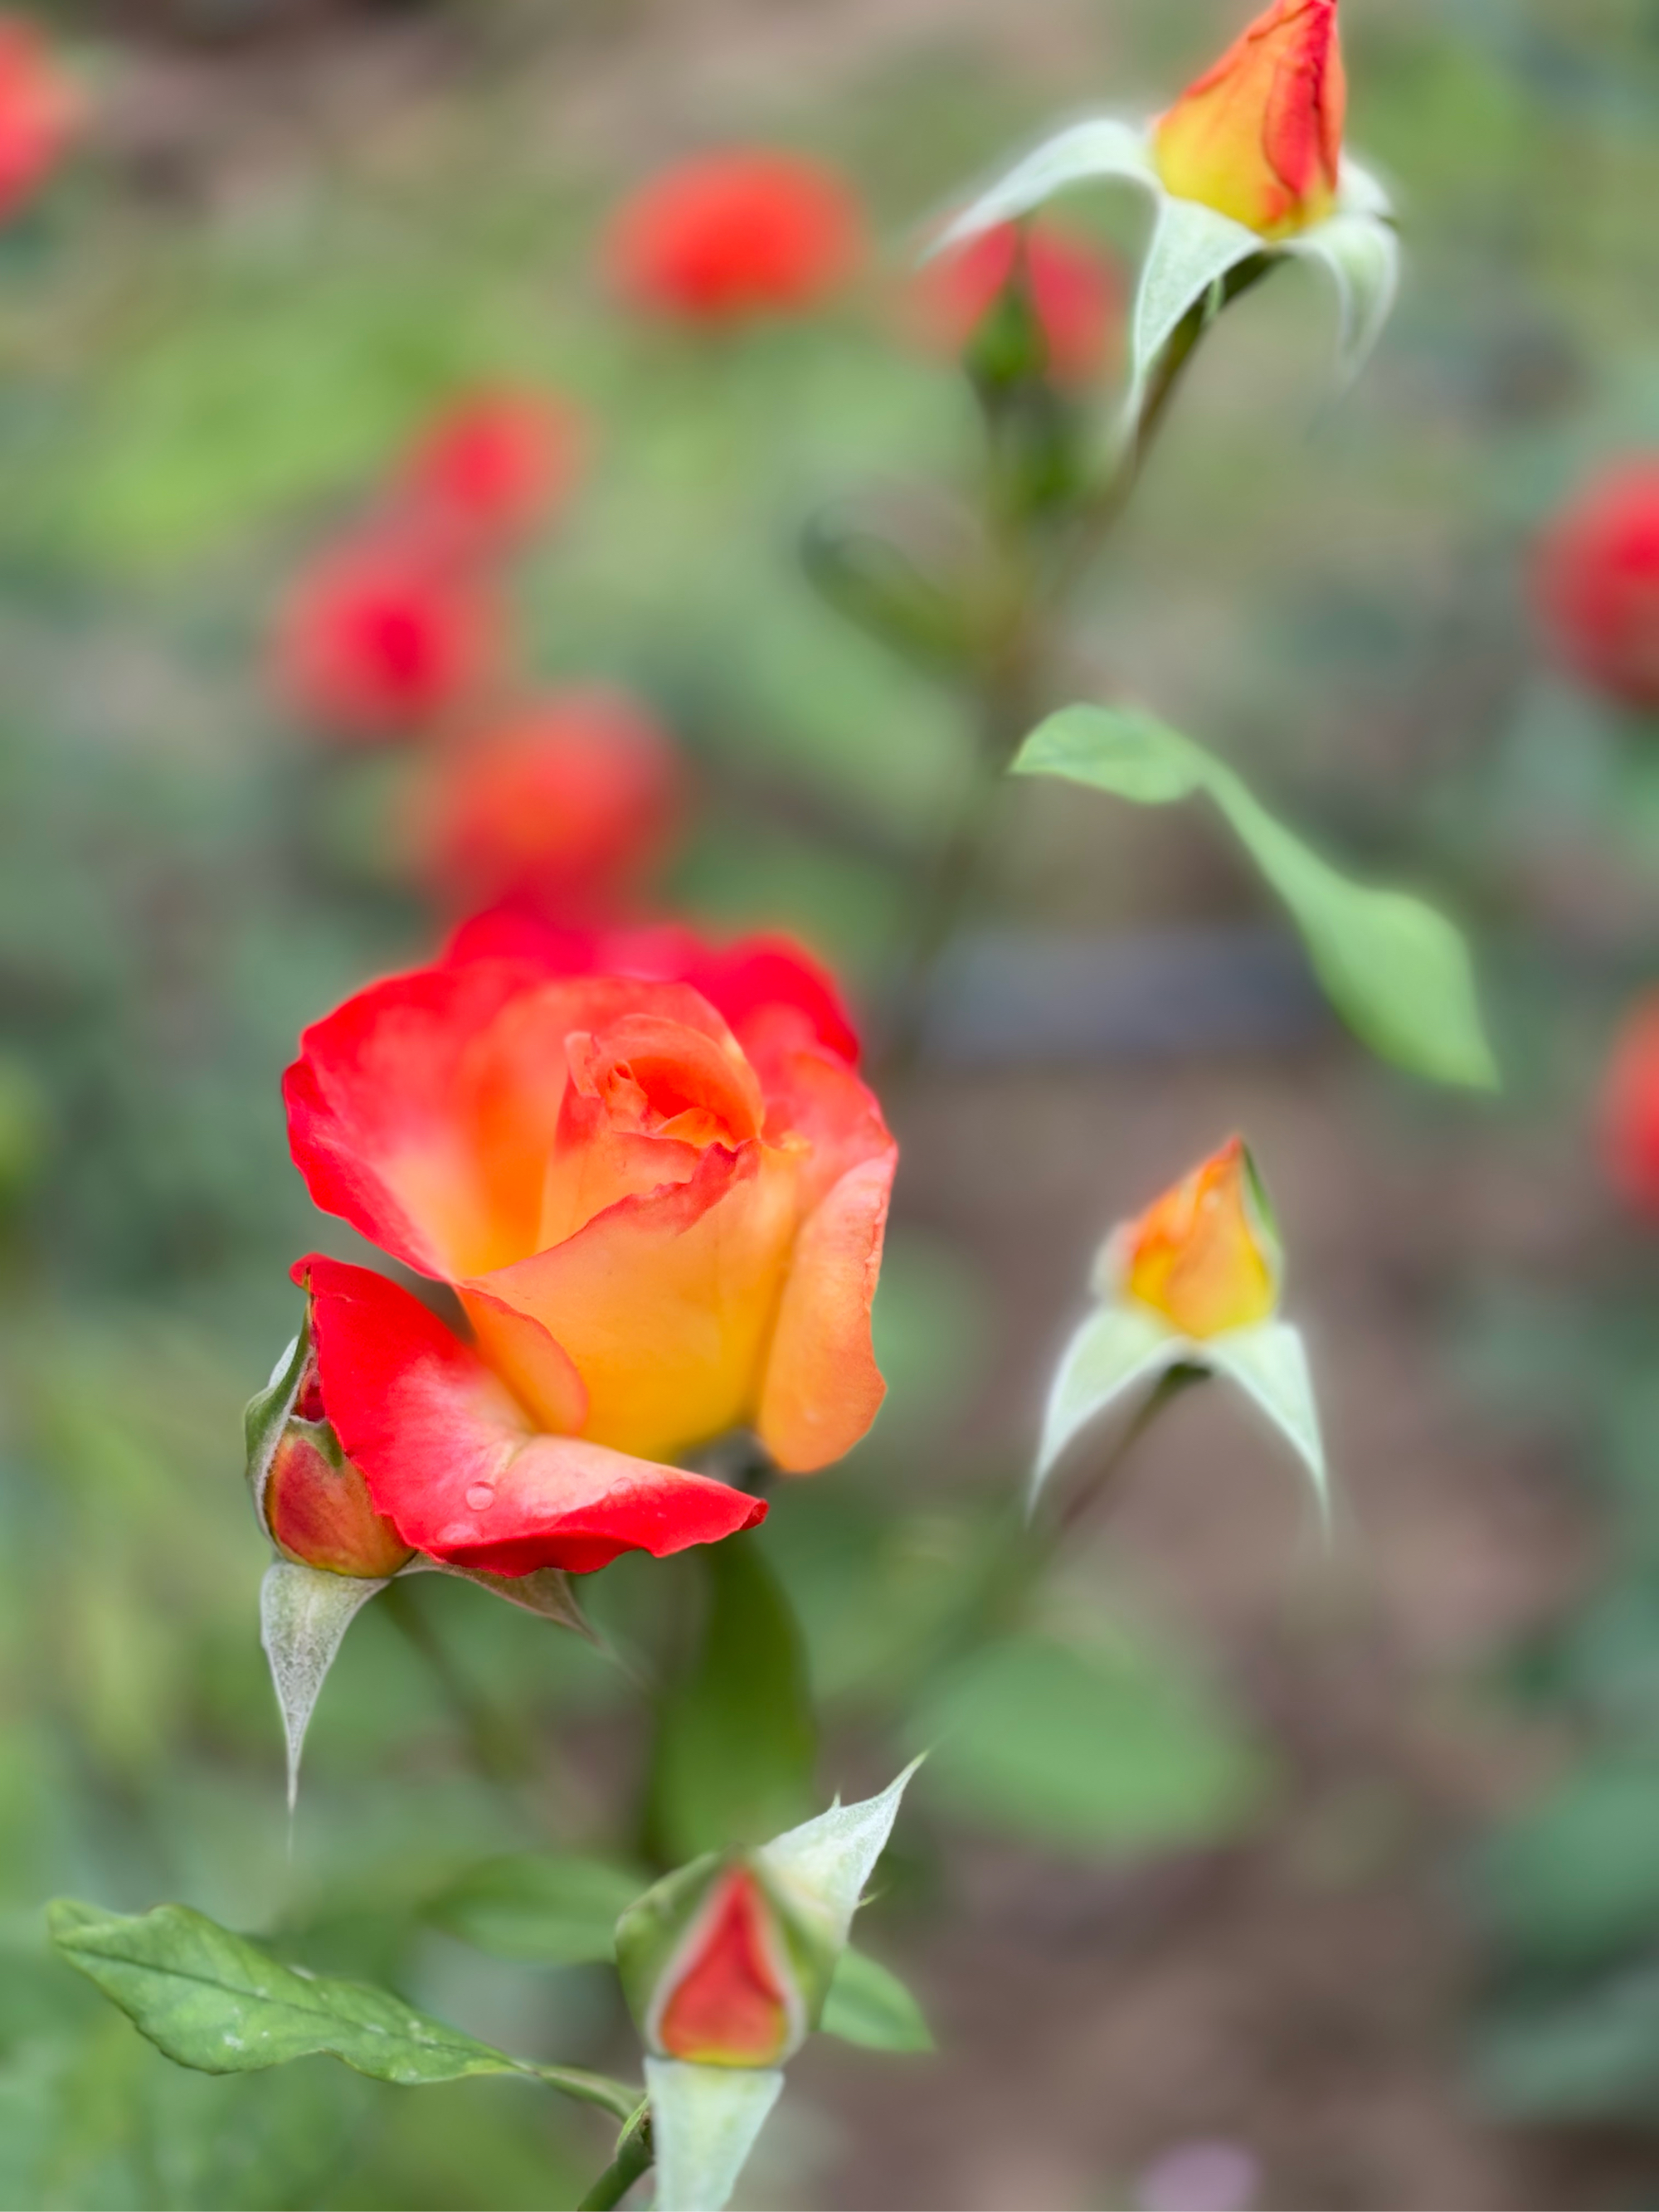
{"type": "Polygon", "coordinates": [[[540,392],[473,392],[418,438],[403,487],[425,524],[489,553],[544,522],[580,465],[573,407],[540,392]]]}

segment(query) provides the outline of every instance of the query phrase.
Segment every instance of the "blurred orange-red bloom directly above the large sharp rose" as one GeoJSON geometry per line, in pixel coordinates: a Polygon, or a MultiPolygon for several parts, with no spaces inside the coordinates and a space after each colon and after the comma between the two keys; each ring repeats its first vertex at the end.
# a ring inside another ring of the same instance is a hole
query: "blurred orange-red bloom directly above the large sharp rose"
{"type": "Polygon", "coordinates": [[[668,849],[684,781],[675,741],[637,701],[555,692],[434,752],[411,801],[416,872],[462,911],[615,914],[668,849]]]}

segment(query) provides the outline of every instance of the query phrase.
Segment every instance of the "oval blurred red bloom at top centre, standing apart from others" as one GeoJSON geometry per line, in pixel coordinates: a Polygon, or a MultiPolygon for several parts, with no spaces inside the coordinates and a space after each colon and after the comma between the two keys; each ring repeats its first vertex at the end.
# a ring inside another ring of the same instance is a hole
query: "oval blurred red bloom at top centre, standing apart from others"
{"type": "Polygon", "coordinates": [[[613,288],[686,323],[805,314],[852,279],[865,232],[825,164],[763,148],[679,161],[622,204],[604,243],[613,288]]]}

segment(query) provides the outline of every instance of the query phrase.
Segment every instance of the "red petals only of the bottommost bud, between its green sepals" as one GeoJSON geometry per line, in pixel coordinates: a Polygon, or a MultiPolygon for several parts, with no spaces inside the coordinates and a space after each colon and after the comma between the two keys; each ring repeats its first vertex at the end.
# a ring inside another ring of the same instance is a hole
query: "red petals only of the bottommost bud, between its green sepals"
{"type": "Polygon", "coordinates": [[[776,2066],[799,2042],[799,2013],[772,1902],[748,1867],[732,1867],[657,1995],[657,2048],[697,2066],[776,2066]]]}

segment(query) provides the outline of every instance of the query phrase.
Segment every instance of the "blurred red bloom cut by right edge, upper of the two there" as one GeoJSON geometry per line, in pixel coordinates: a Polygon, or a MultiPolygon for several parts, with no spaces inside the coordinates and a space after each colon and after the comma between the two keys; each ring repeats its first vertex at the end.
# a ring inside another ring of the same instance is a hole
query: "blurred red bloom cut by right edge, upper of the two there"
{"type": "Polygon", "coordinates": [[[1555,653],[1597,690],[1659,710],[1659,456],[1615,462],[1555,518],[1533,571],[1555,653]]]}

